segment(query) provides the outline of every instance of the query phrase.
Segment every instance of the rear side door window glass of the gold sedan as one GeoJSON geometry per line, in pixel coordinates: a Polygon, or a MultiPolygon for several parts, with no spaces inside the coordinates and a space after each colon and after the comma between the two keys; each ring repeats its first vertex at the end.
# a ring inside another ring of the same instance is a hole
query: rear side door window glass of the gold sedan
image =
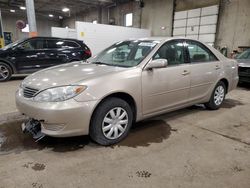
{"type": "Polygon", "coordinates": [[[191,63],[217,61],[215,55],[203,44],[195,41],[187,41],[191,63]]]}

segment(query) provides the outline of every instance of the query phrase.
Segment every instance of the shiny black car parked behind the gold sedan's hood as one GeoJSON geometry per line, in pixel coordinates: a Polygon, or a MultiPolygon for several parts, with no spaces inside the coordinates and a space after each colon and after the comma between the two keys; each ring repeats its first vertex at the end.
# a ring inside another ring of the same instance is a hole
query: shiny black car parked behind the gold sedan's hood
{"type": "Polygon", "coordinates": [[[0,81],[12,74],[28,74],[47,67],[91,57],[86,44],[76,39],[34,37],[0,49],[0,81]]]}

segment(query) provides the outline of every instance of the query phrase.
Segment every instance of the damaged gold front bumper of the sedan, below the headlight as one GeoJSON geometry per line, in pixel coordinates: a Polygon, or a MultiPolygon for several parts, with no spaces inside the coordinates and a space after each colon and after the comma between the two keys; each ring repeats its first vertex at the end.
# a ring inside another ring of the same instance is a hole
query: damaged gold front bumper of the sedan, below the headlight
{"type": "Polygon", "coordinates": [[[53,137],[87,135],[91,115],[98,101],[35,102],[16,94],[18,110],[41,122],[41,132],[53,137]]]}

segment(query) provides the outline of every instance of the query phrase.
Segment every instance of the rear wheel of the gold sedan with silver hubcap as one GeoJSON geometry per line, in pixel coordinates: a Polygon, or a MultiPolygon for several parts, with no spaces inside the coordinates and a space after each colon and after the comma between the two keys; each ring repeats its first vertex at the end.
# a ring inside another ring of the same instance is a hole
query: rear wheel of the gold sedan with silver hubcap
{"type": "Polygon", "coordinates": [[[223,104],[225,96],[226,96],[226,86],[224,82],[219,81],[213,90],[209,102],[205,103],[206,108],[209,110],[218,110],[223,104]]]}

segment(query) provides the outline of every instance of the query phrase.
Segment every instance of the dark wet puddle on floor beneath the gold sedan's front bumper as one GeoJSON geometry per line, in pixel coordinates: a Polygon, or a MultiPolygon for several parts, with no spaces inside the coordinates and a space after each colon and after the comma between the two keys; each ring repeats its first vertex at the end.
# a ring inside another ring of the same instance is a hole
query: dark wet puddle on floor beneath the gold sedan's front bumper
{"type": "Polygon", "coordinates": [[[35,142],[29,134],[21,131],[21,121],[0,125],[0,155],[21,153],[27,150],[51,149],[54,152],[68,152],[84,148],[89,143],[87,136],[71,138],[45,137],[35,142]]]}

